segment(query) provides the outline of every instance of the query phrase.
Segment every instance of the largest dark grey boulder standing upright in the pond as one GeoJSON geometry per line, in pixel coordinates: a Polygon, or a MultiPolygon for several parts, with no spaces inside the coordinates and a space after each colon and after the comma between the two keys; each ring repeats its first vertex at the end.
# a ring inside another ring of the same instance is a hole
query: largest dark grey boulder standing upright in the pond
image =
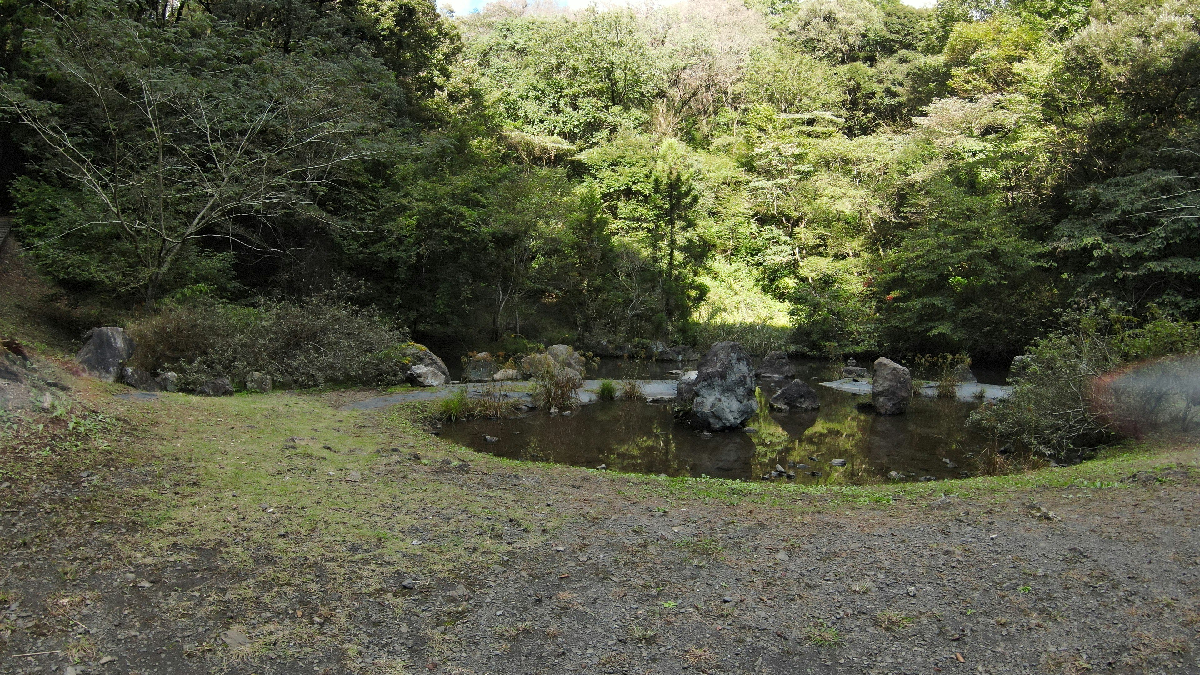
{"type": "MultiPolygon", "coordinates": [[[[737,429],[758,412],[754,365],[737,342],[718,342],[700,362],[698,375],[689,383],[691,424],[697,429],[737,429]]],[[[680,389],[685,387],[680,384],[680,389]]]]}

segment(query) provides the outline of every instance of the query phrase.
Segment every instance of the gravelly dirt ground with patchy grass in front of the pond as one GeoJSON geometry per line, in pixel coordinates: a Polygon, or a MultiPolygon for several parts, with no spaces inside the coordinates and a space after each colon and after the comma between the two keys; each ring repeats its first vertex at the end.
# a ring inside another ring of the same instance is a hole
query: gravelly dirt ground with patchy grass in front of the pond
{"type": "Polygon", "coordinates": [[[1200,673],[1189,442],[788,489],[78,387],[0,436],[4,674],[1200,673]]]}

